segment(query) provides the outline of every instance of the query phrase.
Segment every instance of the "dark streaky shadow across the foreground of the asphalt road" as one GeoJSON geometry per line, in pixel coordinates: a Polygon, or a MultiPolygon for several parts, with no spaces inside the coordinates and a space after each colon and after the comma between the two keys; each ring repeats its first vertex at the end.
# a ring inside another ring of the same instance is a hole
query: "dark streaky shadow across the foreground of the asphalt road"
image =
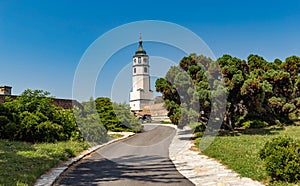
{"type": "Polygon", "coordinates": [[[100,154],[84,159],[55,185],[193,185],[173,163],[158,156],[123,156],[107,160],[100,154]],[[119,163],[116,163],[119,162],[119,163]],[[120,163],[120,162],[124,162],[120,163]],[[147,162],[147,164],[143,163],[147,162]]]}

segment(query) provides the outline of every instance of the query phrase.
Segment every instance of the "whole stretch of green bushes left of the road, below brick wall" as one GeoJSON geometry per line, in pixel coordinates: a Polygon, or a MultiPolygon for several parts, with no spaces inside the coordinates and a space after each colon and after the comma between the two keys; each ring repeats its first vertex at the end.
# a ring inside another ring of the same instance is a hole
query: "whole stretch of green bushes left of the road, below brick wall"
{"type": "Polygon", "coordinates": [[[7,97],[0,104],[0,138],[34,143],[84,139],[99,144],[108,140],[107,131],[142,129],[126,103],[100,97],[67,110],[55,106],[49,95],[28,89],[15,100],[7,97]]]}

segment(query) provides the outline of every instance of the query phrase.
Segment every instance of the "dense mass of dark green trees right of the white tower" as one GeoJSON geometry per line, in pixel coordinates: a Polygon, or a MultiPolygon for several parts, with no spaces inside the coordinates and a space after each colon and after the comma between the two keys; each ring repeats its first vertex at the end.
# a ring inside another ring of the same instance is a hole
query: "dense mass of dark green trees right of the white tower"
{"type": "Polygon", "coordinates": [[[290,114],[300,110],[299,65],[297,56],[267,62],[252,54],[247,61],[223,55],[214,62],[191,54],[155,86],[163,95],[170,120],[180,127],[194,120],[206,126],[210,118],[218,117],[226,129],[289,124],[290,114]],[[225,103],[220,102],[222,95],[225,103]],[[224,115],[212,117],[217,113],[214,109],[222,106],[224,115]]]}

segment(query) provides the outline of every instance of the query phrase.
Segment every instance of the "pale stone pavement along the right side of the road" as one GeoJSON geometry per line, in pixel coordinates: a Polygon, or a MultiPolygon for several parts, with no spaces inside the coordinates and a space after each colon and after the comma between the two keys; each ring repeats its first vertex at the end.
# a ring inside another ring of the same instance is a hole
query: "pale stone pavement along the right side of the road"
{"type": "Polygon", "coordinates": [[[192,131],[177,129],[169,147],[169,156],[177,170],[195,185],[201,186],[263,186],[250,178],[240,177],[234,171],[205,155],[192,151],[192,131]]]}

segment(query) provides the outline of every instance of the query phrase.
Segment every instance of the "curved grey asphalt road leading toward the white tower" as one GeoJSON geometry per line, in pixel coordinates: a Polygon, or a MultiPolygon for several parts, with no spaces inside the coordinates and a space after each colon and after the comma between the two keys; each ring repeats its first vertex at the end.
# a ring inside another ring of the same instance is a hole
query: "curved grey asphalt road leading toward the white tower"
{"type": "Polygon", "coordinates": [[[54,185],[193,185],[169,159],[175,129],[145,125],[144,130],[85,157],[54,185]]]}

